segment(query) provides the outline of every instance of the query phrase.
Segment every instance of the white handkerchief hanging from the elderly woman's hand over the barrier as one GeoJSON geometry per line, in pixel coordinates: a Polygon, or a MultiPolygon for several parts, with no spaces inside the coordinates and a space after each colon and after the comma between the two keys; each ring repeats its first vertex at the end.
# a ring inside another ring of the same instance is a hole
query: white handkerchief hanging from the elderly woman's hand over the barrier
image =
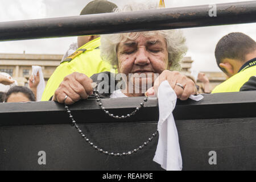
{"type": "MultiPolygon", "coordinates": [[[[203,96],[199,95],[189,98],[198,101],[203,96]]],[[[180,171],[182,169],[179,137],[172,115],[176,100],[177,96],[168,81],[163,81],[158,88],[159,139],[153,160],[167,171],[180,171]]]]}

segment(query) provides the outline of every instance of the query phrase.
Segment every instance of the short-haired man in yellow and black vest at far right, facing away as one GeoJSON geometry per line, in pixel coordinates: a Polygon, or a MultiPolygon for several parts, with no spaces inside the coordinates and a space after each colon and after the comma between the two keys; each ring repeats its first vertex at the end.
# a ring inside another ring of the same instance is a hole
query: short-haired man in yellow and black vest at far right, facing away
{"type": "Polygon", "coordinates": [[[256,43],[253,39],[241,32],[225,35],[216,45],[215,57],[228,80],[217,85],[212,93],[256,90],[256,43]]]}

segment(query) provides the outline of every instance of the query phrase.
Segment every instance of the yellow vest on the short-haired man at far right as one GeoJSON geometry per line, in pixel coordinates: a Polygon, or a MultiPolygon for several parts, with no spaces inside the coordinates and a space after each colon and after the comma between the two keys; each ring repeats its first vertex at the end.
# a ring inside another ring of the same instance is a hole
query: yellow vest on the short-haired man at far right
{"type": "Polygon", "coordinates": [[[253,59],[246,64],[236,75],[216,86],[216,88],[212,90],[212,93],[239,92],[243,84],[245,84],[251,76],[256,75],[256,60],[253,59]],[[246,66],[246,64],[248,66],[246,66]]]}

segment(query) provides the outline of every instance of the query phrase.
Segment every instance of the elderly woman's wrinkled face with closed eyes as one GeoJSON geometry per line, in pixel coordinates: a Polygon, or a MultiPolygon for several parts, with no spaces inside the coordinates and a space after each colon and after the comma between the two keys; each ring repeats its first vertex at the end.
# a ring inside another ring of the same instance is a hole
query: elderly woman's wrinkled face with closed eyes
{"type": "MultiPolygon", "coordinates": [[[[155,78],[151,75],[154,73],[160,75],[168,67],[167,43],[163,36],[144,37],[139,35],[135,40],[128,39],[126,42],[118,44],[117,58],[119,73],[126,76],[133,73],[135,80],[139,78],[137,80],[140,84],[144,79],[140,75],[146,75],[146,82],[151,77],[150,80],[154,84],[155,78]]],[[[130,79],[129,82],[134,84],[135,80],[130,79]]]]}

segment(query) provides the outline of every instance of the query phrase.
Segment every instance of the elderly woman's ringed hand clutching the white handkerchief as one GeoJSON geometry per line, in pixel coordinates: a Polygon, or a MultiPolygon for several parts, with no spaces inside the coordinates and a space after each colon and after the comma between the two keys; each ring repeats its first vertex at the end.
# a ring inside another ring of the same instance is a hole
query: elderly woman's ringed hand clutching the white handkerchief
{"type": "Polygon", "coordinates": [[[180,100],[187,100],[189,96],[197,94],[195,83],[191,79],[180,72],[165,70],[156,78],[154,86],[147,90],[147,96],[157,96],[158,87],[165,80],[169,82],[180,100]]]}

